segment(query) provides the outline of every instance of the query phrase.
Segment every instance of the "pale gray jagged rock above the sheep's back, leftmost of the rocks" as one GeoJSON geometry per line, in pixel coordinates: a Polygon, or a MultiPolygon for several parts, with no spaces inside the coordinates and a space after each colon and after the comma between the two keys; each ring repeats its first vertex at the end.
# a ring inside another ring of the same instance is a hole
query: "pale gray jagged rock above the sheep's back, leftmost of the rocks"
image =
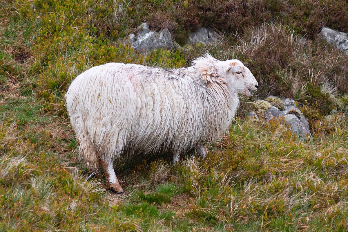
{"type": "Polygon", "coordinates": [[[131,46],[140,52],[147,52],[156,48],[173,48],[172,35],[168,29],[162,31],[150,31],[147,23],[142,23],[138,26],[137,36],[130,34],[124,40],[124,43],[129,42],[131,46]]]}

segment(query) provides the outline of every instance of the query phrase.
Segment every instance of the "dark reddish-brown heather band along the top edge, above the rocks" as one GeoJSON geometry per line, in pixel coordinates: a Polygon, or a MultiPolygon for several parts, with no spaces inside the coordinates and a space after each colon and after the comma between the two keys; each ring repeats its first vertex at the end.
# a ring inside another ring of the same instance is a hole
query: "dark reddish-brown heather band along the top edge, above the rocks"
{"type": "MultiPolygon", "coordinates": [[[[173,1],[173,5],[164,7],[161,18],[170,19],[172,25],[176,22],[185,31],[207,26],[238,34],[264,22],[279,21],[292,26],[296,34],[314,38],[325,25],[343,31],[348,29],[347,4],[344,0],[208,0],[187,4],[173,1]]],[[[156,6],[150,8],[156,9],[156,6]]]]}

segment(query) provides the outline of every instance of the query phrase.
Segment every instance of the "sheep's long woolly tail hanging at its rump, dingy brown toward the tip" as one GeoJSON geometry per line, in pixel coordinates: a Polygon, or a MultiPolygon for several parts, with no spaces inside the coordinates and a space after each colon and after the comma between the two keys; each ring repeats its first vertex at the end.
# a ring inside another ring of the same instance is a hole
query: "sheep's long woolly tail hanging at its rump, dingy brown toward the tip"
{"type": "Polygon", "coordinates": [[[89,173],[98,175],[100,155],[89,139],[88,132],[80,116],[75,117],[75,132],[80,144],[80,154],[86,162],[89,173]]]}

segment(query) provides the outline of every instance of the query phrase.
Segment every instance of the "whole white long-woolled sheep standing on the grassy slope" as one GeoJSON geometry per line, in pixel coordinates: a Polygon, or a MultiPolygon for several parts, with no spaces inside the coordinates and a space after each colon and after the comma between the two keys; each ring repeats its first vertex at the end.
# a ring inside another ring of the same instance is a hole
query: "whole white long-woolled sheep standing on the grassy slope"
{"type": "Polygon", "coordinates": [[[114,193],[123,193],[112,162],[122,154],[180,154],[195,148],[202,158],[207,142],[229,127],[239,105],[238,93],[252,96],[258,82],[239,60],[211,55],[192,66],[161,69],[107,63],[93,67],[71,83],[66,107],[88,171],[105,178],[114,193]]]}

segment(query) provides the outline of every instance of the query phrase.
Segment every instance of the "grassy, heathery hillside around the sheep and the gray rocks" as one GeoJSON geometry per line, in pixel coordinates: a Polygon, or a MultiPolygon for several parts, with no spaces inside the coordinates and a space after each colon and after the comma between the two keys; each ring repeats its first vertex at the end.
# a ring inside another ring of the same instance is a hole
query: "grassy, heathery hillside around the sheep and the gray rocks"
{"type": "Polygon", "coordinates": [[[317,36],[348,32],[345,0],[0,1],[0,231],[347,231],[348,56],[317,36]],[[175,48],[120,40],[147,22],[175,48]],[[216,44],[185,45],[200,25],[216,44]],[[106,62],[163,68],[206,52],[259,82],[202,161],[192,153],[116,161],[124,195],[88,178],[64,106],[81,72],[106,62]],[[269,94],[298,102],[313,138],[245,118],[269,94]]]}

